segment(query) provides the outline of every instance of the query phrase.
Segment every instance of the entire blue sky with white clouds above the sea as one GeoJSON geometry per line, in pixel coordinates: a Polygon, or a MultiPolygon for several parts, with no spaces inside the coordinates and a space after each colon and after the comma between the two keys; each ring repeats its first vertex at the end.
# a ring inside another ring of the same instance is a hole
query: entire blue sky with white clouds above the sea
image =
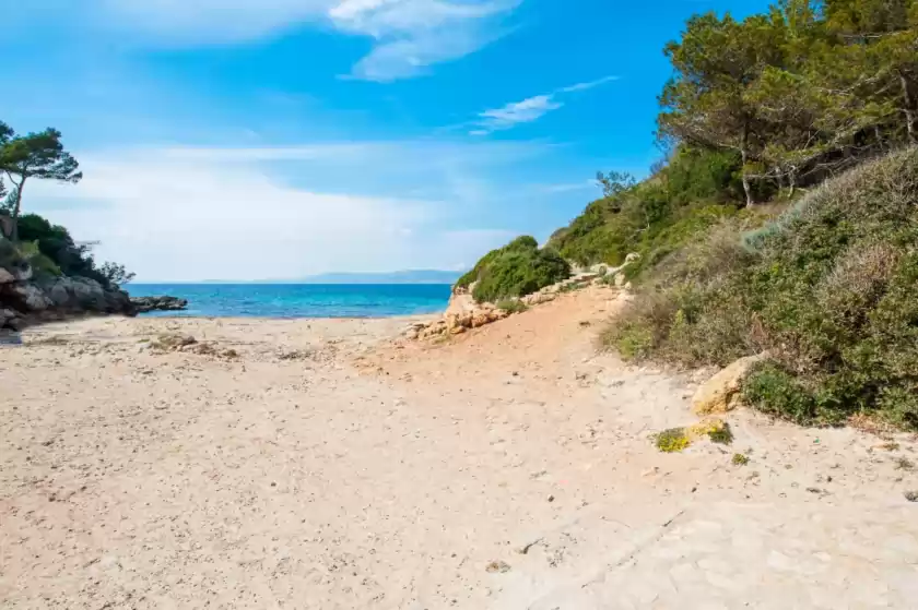
{"type": "Polygon", "coordinates": [[[663,45],[752,0],[0,0],[23,205],[137,282],[463,270],[646,175],[663,45]]]}

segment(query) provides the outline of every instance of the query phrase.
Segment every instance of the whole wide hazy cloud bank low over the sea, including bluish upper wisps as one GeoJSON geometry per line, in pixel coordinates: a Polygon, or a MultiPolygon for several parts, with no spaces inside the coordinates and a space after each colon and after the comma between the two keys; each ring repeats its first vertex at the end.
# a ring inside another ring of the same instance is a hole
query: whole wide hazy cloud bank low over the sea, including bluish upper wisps
{"type": "Polygon", "coordinates": [[[530,154],[410,141],[76,153],[84,180],[35,184],[30,211],[142,280],[463,267],[511,232],[458,211],[489,205],[484,172],[530,154]]]}

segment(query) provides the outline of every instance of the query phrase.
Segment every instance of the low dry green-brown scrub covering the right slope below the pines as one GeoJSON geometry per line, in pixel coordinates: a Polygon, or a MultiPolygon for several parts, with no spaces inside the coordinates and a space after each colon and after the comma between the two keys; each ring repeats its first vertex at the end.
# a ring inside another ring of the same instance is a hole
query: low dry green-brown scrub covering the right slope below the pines
{"type": "Polygon", "coordinates": [[[752,405],[918,430],[918,149],[825,182],[757,230],[730,222],[673,253],[603,339],[686,367],[768,350],[744,385],[752,405]]]}

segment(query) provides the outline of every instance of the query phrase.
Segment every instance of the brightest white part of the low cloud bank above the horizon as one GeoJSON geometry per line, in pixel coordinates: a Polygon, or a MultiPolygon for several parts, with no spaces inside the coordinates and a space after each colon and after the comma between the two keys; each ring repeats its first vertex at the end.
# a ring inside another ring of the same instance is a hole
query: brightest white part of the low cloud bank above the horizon
{"type": "Polygon", "coordinates": [[[28,207],[99,241],[98,260],[126,264],[139,280],[452,267],[510,235],[448,226],[454,206],[442,201],[329,194],[264,171],[264,159],[302,158],[296,151],[84,154],[80,184],[36,183],[28,207]]]}

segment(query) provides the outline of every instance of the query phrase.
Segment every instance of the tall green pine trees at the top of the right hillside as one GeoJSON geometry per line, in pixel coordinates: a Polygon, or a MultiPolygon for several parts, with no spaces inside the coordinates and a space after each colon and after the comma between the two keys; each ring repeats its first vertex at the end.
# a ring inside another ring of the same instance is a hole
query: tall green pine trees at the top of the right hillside
{"type": "Polygon", "coordinates": [[[748,203],[918,143],[916,7],[784,0],[742,21],[693,16],[666,48],[661,139],[739,154],[748,203]]]}

